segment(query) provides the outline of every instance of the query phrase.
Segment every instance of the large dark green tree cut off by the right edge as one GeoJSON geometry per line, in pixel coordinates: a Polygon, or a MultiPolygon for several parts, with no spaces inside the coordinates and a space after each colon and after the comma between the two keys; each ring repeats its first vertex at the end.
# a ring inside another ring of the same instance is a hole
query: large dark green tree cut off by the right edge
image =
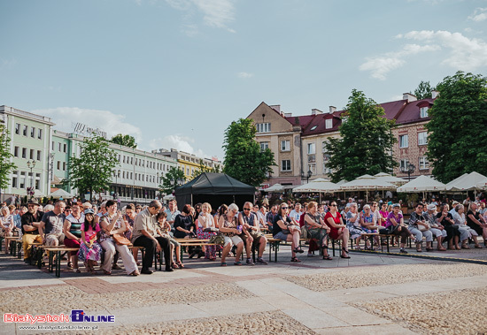
{"type": "Polygon", "coordinates": [[[446,183],[465,172],[487,174],[487,78],[457,72],[438,84],[429,110],[428,160],[446,183]]]}

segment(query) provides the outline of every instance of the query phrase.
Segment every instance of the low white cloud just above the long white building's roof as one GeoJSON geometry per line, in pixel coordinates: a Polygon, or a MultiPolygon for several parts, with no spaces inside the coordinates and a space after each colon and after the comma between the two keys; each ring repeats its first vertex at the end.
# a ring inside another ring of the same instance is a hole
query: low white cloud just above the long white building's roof
{"type": "Polygon", "coordinates": [[[56,124],[54,129],[62,132],[73,133],[74,125],[78,122],[90,128],[99,128],[106,132],[110,139],[112,136],[123,133],[134,136],[135,142],[140,146],[142,131],[138,126],[125,122],[125,116],[115,114],[109,110],[87,110],[77,107],[58,107],[46,110],[33,110],[35,114],[52,118],[56,124]]]}

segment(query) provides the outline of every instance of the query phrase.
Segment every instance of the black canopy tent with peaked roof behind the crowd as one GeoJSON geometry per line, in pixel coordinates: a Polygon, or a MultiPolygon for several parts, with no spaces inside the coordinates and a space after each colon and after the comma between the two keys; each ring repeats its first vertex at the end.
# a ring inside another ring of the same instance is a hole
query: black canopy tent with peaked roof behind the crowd
{"type": "Polygon", "coordinates": [[[255,187],[243,184],[225,173],[205,172],[175,190],[179,209],[185,203],[194,205],[198,202],[209,202],[213,209],[222,203],[234,202],[242,209],[244,202],[253,202],[255,187]]]}

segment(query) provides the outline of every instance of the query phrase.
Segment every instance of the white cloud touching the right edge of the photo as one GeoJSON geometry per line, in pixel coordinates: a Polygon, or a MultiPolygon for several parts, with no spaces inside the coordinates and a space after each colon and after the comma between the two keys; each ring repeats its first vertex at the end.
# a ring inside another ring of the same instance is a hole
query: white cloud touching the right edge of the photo
{"type": "Polygon", "coordinates": [[[474,71],[487,66],[487,43],[479,39],[469,39],[460,33],[431,30],[412,31],[403,38],[421,42],[436,42],[450,53],[440,64],[448,65],[455,70],[474,71]]]}

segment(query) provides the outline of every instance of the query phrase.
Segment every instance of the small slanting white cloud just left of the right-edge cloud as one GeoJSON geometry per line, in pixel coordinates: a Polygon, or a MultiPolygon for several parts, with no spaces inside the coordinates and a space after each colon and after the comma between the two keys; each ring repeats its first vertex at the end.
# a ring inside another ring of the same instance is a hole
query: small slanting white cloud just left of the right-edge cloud
{"type": "Polygon", "coordinates": [[[372,78],[385,80],[387,73],[406,64],[405,57],[437,49],[440,49],[437,45],[406,44],[399,51],[388,52],[378,57],[367,57],[366,62],[359,66],[359,70],[370,71],[372,78]]]}

